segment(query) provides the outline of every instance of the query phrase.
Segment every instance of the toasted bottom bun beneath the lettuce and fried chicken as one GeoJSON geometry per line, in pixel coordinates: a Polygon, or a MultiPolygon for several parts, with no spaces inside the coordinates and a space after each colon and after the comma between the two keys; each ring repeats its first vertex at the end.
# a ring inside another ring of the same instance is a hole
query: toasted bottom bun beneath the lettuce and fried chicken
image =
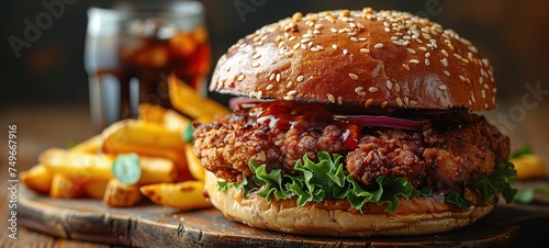
{"type": "Polygon", "coordinates": [[[399,208],[389,213],[384,206],[370,203],[362,213],[349,206],[347,200],[334,200],[329,204],[317,203],[296,206],[295,199],[271,201],[250,194],[244,198],[239,190],[217,190],[217,178],[206,172],[205,190],[212,204],[226,218],[253,227],[292,234],[325,235],[339,237],[412,236],[444,233],[477,222],[489,214],[496,204],[480,201],[458,210],[442,196],[418,196],[401,200],[399,208]],[[332,204],[334,203],[334,204],[332,204]],[[337,206],[337,207],[334,207],[337,206]]]}

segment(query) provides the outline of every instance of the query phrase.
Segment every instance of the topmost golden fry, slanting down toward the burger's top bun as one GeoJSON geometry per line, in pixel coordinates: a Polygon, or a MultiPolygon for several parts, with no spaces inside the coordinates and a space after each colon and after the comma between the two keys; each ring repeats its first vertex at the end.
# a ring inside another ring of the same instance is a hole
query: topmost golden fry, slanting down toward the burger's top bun
{"type": "Polygon", "coordinates": [[[195,89],[173,75],[168,79],[168,91],[173,108],[192,119],[211,121],[217,115],[229,113],[227,108],[212,99],[200,97],[195,89]]]}

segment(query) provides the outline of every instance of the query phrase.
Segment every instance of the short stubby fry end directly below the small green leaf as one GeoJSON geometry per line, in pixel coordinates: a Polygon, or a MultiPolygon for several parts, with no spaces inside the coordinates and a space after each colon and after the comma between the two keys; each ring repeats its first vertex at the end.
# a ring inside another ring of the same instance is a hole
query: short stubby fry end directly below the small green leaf
{"type": "Polygon", "coordinates": [[[138,185],[126,185],[116,179],[111,179],[107,183],[103,202],[108,206],[127,207],[137,204],[141,198],[138,185]]]}

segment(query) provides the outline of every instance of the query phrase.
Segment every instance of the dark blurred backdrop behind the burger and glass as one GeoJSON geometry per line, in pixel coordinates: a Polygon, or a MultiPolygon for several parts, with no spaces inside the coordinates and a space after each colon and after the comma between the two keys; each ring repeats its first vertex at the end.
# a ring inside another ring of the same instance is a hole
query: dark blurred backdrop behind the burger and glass
{"type": "MultiPolygon", "coordinates": [[[[52,2],[55,0],[44,0],[52,2]]],[[[61,1],[61,0],[57,0],[61,1]]],[[[88,77],[83,68],[87,10],[110,0],[65,0],[65,12],[44,30],[30,47],[12,49],[8,37],[23,38],[25,19],[34,22],[45,12],[42,1],[8,0],[0,3],[2,56],[0,103],[2,108],[22,103],[88,103],[88,77]],[[68,4],[74,2],[72,4],[68,4]]],[[[290,16],[295,11],[327,9],[397,9],[428,16],[456,30],[490,58],[500,86],[498,101],[511,101],[526,91],[524,84],[540,81],[549,89],[549,1],[294,1],[294,0],[202,0],[208,10],[208,27],[213,63],[239,37],[264,24],[290,16]],[[248,5],[239,15],[235,8],[248,5]],[[256,7],[257,5],[257,7],[256,7]],[[244,20],[244,22],[243,22],[244,20]]],[[[549,95],[547,97],[549,98],[549,95]]]]}

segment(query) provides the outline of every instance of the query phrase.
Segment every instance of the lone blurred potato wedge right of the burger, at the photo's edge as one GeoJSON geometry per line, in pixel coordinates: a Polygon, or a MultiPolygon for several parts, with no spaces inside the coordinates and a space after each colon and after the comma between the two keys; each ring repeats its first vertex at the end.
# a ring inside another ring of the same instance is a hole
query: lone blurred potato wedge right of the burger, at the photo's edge
{"type": "Polygon", "coordinates": [[[517,180],[546,178],[548,176],[544,160],[537,155],[525,154],[511,159],[511,162],[515,165],[517,180]]]}

